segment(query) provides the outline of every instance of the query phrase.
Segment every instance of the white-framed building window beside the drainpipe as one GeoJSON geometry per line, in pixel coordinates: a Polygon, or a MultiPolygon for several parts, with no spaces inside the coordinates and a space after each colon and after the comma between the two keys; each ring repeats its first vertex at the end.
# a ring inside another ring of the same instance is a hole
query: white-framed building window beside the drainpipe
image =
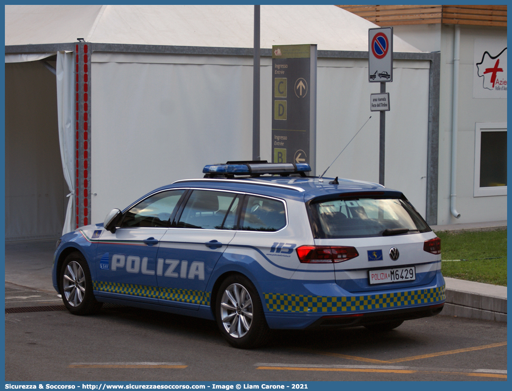
{"type": "Polygon", "coordinates": [[[507,195],[507,123],[477,122],[474,197],[507,195]]]}

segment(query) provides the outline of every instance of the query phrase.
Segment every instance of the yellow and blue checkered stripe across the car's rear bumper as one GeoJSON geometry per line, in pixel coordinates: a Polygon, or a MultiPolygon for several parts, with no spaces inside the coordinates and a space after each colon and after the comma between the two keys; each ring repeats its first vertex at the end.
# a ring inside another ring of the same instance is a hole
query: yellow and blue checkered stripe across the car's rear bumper
{"type": "Polygon", "coordinates": [[[436,303],[446,299],[445,286],[409,292],[368,296],[305,296],[265,293],[267,309],[273,312],[348,312],[390,309],[436,303]]]}

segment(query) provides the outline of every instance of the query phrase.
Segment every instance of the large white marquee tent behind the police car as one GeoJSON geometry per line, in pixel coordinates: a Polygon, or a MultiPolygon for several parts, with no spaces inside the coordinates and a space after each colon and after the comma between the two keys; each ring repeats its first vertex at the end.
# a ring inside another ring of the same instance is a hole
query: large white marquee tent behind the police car
{"type": "MultiPolygon", "coordinates": [[[[200,177],[205,164],[251,158],[253,6],[5,11],[6,241],[47,240],[65,221],[64,231],[76,225],[73,203],[83,199],[75,191],[75,151],[78,157],[83,148],[74,146],[74,89],[84,76],[74,66],[77,38],[90,48],[90,155],[80,157],[88,169],[87,215],[81,205],[80,223],[101,222],[157,186],[200,177]]],[[[334,6],[261,6],[262,159],[271,160],[272,45],[317,45],[321,169],[371,115],[370,93],[379,92],[378,83],[368,83],[365,59],[373,27],[334,6]]],[[[432,58],[396,36],[394,52],[386,185],[403,190],[425,215],[432,58]]],[[[377,182],[378,132],[374,115],[327,175],[377,182]]]]}

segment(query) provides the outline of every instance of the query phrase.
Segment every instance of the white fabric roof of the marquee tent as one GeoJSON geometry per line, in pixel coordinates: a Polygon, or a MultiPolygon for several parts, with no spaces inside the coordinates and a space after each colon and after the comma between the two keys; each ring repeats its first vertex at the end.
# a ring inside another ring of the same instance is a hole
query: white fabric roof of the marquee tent
{"type": "MultiPolygon", "coordinates": [[[[6,6],[6,46],[86,42],[252,48],[253,6],[6,6]],[[48,20],[52,20],[49,24],[48,20]]],[[[261,7],[261,47],[368,51],[378,27],[333,6],[261,7]]],[[[394,38],[397,52],[419,52],[394,38]]]]}

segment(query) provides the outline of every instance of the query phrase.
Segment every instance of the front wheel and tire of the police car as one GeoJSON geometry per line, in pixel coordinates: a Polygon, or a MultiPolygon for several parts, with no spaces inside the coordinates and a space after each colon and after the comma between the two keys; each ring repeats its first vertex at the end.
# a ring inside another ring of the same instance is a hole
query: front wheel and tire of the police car
{"type": "Polygon", "coordinates": [[[103,303],[93,294],[91,272],[86,258],[78,252],[69,254],[60,270],[62,301],[75,315],[91,315],[99,311],[103,303]]]}

